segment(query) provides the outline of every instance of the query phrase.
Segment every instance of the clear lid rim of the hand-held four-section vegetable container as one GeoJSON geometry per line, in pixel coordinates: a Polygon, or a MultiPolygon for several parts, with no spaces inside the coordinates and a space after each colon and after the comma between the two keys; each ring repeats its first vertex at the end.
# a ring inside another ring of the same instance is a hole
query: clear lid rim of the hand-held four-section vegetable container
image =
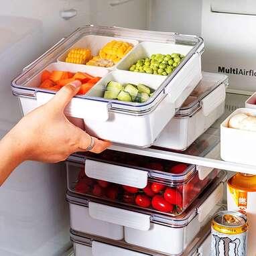
{"type": "MultiPolygon", "coordinates": [[[[139,29],[127,29],[121,27],[99,27],[94,25],[86,25],[74,31],[73,34],[61,40],[56,46],[51,48],[46,54],[43,54],[25,68],[24,72],[21,73],[12,82],[13,93],[17,96],[23,97],[36,97],[36,92],[48,92],[54,94],[55,92],[49,92],[42,88],[29,87],[27,83],[31,81],[34,76],[40,74],[49,64],[56,62],[56,60],[64,53],[68,48],[71,48],[78,40],[84,36],[96,35],[96,36],[111,36],[114,38],[123,38],[137,40],[139,42],[155,42],[164,44],[179,44],[183,46],[190,46],[191,50],[186,54],[186,58],[182,60],[180,65],[170,74],[166,76],[166,80],[159,85],[155,90],[152,97],[149,98],[145,103],[129,103],[123,101],[109,100],[99,97],[90,96],[79,96],[76,97],[82,99],[88,99],[90,101],[100,101],[103,103],[109,103],[111,109],[119,109],[129,112],[135,112],[143,114],[145,111],[150,111],[153,107],[156,107],[157,103],[163,99],[166,95],[165,88],[170,81],[178,74],[180,69],[190,60],[190,58],[196,53],[201,53],[203,48],[202,38],[196,36],[185,36],[170,32],[158,32],[158,31],[146,31],[139,29]]],[[[152,75],[153,76],[153,75],[152,75]]]]}

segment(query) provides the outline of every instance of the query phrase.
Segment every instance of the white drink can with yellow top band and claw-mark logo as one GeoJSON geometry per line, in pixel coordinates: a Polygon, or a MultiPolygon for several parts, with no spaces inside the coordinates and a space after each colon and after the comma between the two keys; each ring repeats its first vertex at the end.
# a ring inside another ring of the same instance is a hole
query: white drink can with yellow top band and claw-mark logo
{"type": "Polygon", "coordinates": [[[247,217],[243,213],[224,210],[215,214],[210,256],[246,256],[247,230],[247,217]]]}

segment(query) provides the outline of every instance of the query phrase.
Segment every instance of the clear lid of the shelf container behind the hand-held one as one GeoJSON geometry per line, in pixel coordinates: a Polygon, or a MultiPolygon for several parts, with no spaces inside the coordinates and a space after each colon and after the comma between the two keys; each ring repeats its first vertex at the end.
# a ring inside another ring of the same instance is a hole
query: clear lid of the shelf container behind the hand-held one
{"type": "Polygon", "coordinates": [[[176,117],[186,117],[196,113],[201,107],[200,102],[202,99],[222,83],[228,85],[228,76],[224,74],[202,72],[202,80],[198,83],[196,88],[194,88],[180,110],[176,112],[176,117]]]}

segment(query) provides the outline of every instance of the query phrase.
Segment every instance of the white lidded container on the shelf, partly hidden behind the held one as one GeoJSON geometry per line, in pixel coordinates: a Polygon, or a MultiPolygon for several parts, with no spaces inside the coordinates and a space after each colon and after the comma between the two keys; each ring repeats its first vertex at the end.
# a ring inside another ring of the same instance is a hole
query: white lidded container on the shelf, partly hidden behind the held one
{"type": "Polygon", "coordinates": [[[153,145],[187,149],[224,113],[227,83],[225,75],[202,72],[202,80],[153,145]]]}

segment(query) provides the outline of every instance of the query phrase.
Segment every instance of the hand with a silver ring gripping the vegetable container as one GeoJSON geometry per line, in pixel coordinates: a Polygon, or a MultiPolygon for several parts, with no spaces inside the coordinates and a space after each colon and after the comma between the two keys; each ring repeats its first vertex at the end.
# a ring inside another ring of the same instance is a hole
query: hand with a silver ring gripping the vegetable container
{"type": "MultiPolygon", "coordinates": [[[[64,86],[48,103],[31,111],[7,134],[15,141],[21,161],[56,163],[76,151],[86,151],[92,137],[64,115],[64,109],[80,89],[75,81],[64,86]]],[[[101,153],[111,143],[94,139],[92,152],[101,153]]]]}

